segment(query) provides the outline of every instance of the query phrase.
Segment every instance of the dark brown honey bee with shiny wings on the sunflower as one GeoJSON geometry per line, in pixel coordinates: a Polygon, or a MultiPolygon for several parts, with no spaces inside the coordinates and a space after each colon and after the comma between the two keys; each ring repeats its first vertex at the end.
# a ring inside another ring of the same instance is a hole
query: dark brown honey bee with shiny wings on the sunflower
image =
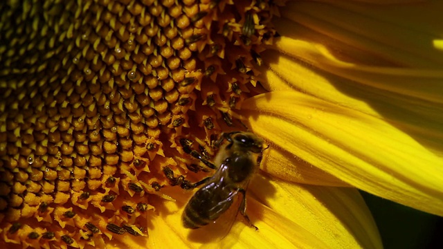
{"type": "Polygon", "coordinates": [[[251,177],[257,171],[262,160],[263,140],[253,133],[233,131],[222,133],[215,146],[220,147],[215,157],[215,165],[219,165],[217,172],[211,177],[192,185],[203,185],[191,197],[181,216],[186,228],[197,229],[208,223],[214,223],[221,214],[224,214],[240,194],[238,212],[244,216],[249,225],[255,230],[258,228],[251,223],[246,214],[246,189],[251,177]]]}

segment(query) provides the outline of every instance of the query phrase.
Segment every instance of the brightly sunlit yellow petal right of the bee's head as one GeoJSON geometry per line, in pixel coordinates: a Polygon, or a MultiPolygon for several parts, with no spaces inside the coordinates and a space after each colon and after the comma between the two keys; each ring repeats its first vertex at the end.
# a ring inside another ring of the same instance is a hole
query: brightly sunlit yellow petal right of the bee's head
{"type": "MultiPolygon", "coordinates": [[[[443,215],[443,160],[383,119],[296,91],[243,104],[253,131],[346,183],[443,215]]],[[[264,162],[266,163],[266,161],[264,162]]]]}

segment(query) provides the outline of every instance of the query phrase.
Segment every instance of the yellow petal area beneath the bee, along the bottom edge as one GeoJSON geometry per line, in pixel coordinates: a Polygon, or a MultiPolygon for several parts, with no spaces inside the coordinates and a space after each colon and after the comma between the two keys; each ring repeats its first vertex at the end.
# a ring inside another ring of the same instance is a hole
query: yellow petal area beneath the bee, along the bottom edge
{"type": "Polygon", "coordinates": [[[205,228],[190,231],[181,225],[190,194],[176,193],[177,202],[152,200],[159,208],[148,225],[149,241],[123,243],[147,248],[381,248],[377,227],[356,190],[296,185],[259,174],[247,194],[247,213],[259,230],[238,215],[221,241],[205,228]]]}

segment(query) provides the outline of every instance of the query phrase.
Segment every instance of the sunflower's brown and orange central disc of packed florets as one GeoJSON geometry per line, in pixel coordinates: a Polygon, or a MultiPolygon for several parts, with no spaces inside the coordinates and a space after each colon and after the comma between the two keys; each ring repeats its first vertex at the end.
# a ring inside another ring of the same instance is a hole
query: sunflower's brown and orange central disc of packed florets
{"type": "Polygon", "coordinates": [[[31,247],[84,248],[113,236],[147,237],[140,227],[153,207],[145,194],[192,187],[183,172],[208,171],[179,149],[180,139],[210,145],[256,92],[255,66],[277,35],[271,19],[279,5],[0,3],[0,235],[7,238],[0,248],[21,238],[31,247]],[[159,165],[163,157],[181,170],[159,165]]]}

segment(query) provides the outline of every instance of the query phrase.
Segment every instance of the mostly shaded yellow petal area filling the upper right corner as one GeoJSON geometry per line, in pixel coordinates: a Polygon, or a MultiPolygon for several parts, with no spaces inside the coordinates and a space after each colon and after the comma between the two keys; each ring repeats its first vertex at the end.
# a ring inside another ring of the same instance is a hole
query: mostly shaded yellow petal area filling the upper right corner
{"type": "Polygon", "coordinates": [[[443,156],[442,4],[290,3],[261,82],[383,118],[443,156]]]}

